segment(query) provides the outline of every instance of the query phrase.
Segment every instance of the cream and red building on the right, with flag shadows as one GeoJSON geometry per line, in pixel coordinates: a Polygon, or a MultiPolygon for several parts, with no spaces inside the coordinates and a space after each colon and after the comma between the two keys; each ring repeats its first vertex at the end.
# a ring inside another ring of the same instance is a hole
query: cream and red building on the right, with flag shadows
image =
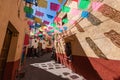
{"type": "Polygon", "coordinates": [[[87,80],[119,80],[119,3],[119,0],[91,0],[86,10],[89,16],[83,18],[84,10],[78,9],[77,0],[68,0],[66,6],[76,9],[78,14],[71,11],[58,15],[62,19],[67,16],[69,22],[62,25],[68,30],[55,37],[57,60],[87,80]],[[94,10],[92,3],[96,1],[101,6],[94,10]],[[70,24],[71,20],[74,24],[70,24]]]}

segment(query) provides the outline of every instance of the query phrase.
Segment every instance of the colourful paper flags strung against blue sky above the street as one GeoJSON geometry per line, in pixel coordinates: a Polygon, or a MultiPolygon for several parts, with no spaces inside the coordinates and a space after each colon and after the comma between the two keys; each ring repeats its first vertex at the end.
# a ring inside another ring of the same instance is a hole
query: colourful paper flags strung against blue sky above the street
{"type": "Polygon", "coordinates": [[[90,13],[87,11],[90,4],[92,5],[93,11],[97,11],[103,5],[101,2],[91,2],[90,0],[72,0],[78,3],[78,8],[76,9],[70,8],[69,6],[64,6],[66,1],[67,0],[47,0],[47,7],[41,7],[39,0],[25,0],[27,5],[24,6],[24,12],[26,13],[26,17],[30,19],[27,22],[31,29],[30,35],[37,34],[38,36],[41,36],[42,32],[46,32],[48,35],[55,32],[62,33],[67,30],[68,27],[61,24],[58,25],[59,22],[64,24],[74,24],[75,20],[58,17],[57,13],[59,11],[63,13],[70,12],[72,15],[80,15],[79,17],[82,18],[90,18],[90,13]],[[81,14],[80,11],[82,11],[81,14]],[[36,30],[32,30],[34,28],[39,31],[36,32],[36,30]]]}

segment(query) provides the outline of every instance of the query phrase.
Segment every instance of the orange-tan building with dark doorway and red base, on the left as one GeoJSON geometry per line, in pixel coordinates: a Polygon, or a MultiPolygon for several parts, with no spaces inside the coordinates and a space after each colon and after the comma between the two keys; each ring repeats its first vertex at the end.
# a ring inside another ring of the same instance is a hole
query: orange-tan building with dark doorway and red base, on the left
{"type": "Polygon", "coordinates": [[[0,0],[0,80],[15,80],[28,34],[21,0],[0,0]]]}

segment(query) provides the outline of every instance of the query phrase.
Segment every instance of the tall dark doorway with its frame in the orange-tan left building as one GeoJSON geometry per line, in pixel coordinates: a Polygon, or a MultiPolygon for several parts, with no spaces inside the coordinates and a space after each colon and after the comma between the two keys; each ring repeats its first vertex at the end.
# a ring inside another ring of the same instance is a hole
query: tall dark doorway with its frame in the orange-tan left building
{"type": "MultiPolygon", "coordinates": [[[[13,44],[12,39],[14,36],[18,37],[18,32],[14,26],[9,22],[6,30],[1,54],[0,54],[0,80],[3,80],[5,67],[8,59],[8,53],[10,51],[11,44],[13,44]]],[[[14,41],[15,43],[16,41],[14,41]]],[[[15,51],[15,50],[14,50],[15,51]]]]}

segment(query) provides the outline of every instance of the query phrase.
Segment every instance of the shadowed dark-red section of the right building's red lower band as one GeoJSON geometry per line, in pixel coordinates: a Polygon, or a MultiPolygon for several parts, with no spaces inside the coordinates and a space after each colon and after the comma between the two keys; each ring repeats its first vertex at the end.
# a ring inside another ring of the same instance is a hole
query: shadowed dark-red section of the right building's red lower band
{"type": "Polygon", "coordinates": [[[73,71],[84,76],[87,80],[102,80],[87,57],[73,56],[72,65],[73,71]]]}

